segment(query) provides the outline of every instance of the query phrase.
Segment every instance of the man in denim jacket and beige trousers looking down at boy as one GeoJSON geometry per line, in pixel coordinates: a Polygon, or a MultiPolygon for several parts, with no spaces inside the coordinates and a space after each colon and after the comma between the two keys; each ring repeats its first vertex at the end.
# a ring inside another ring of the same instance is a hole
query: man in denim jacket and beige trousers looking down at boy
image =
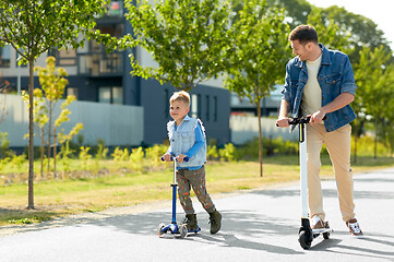
{"type": "Polygon", "coordinates": [[[299,25],[289,35],[297,57],[286,66],[278,127],[286,128],[288,114],[310,116],[307,124],[308,204],[311,227],[323,228],[325,213],[321,189],[320,152],[325,143],[334,166],[339,207],[353,236],[363,234],[355,217],[353,175],[350,168],[350,122],[356,118],[349,104],[356,84],[349,58],[319,44],[310,25],[299,25]],[[324,119],[324,121],[323,121],[324,119]]]}

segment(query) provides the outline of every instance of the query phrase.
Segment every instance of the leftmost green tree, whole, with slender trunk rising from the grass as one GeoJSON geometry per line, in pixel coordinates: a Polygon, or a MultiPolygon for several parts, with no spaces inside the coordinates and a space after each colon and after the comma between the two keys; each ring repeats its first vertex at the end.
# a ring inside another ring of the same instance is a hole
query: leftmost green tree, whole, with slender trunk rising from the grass
{"type": "Polygon", "coordinates": [[[34,207],[34,66],[50,48],[77,48],[84,44],[80,33],[89,34],[96,17],[109,0],[12,0],[0,2],[0,46],[11,45],[23,62],[28,62],[28,205],[34,207]]]}

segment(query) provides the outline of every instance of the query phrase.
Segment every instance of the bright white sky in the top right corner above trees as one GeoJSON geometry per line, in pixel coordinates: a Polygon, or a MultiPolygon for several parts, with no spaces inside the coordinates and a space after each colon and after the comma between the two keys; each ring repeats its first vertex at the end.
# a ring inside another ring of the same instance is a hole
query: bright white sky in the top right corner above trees
{"type": "Polygon", "coordinates": [[[320,7],[329,8],[338,5],[347,11],[361,14],[372,20],[378,28],[384,32],[385,38],[391,41],[390,46],[394,50],[394,1],[393,0],[307,0],[320,7]]]}

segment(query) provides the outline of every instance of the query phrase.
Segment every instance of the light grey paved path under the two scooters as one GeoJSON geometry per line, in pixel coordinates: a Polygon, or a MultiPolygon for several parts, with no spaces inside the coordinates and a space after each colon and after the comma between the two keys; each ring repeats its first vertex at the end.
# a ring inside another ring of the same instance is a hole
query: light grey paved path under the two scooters
{"type": "MultiPolygon", "coordinates": [[[[366,234],[362,239],[348,236],[335,181],[323,181],[323,193],[326,218],[335,231],[329,240],[314,239],[310,250],[298,243],[300,204],[295,184],[214,199],[224,216],[223,229],[216,235],[208,233],[207,215],[196,203],[200,234],[187,239],[174,235],[158,238],[157,225],[170,222],[167,205],[2,236],[0,261],[394,261],[394,169],[355,176],[356,212],[366,234]]],[[[181,216],[179,212],[178,221],[181,216]]]]}

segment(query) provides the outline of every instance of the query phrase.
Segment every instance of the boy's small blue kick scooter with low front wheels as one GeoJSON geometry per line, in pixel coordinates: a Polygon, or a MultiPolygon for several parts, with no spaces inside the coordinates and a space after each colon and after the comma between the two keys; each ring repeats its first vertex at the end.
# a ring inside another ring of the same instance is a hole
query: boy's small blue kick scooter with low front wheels
{"type": "MultiPolygon", "coordinates": [[[[162,160],[164,162],[164,158],[162,157],[162,160]]],[[[171,157],[171,160],[174,162],[174,182],[171,184],[172,187],[172,222],[171,224],[164,224],[160,223],[157,227],[157,236],[163,237],[165,234],[180,234],[181,238],[187,238],[189,233],[198,234],[201,231],[200,226],[195,230],[189,230],[187,224],[181,224],[178,226],[177,224],[177,160],[171,157]]],[[[189,162],[188,157],[183,158],[184,162],[189,162]]]]}

